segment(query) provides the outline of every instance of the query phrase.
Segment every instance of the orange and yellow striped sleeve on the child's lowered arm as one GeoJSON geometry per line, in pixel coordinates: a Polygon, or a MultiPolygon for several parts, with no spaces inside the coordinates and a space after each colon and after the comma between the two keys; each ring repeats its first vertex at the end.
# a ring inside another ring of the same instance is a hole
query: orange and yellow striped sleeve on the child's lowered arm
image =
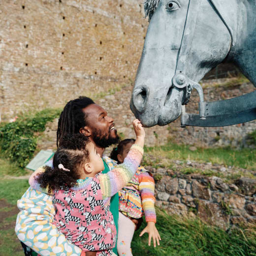
{"type": "Polygon", "coordinates": [[[155,210],[155,181],[148,171],[139,175],[139,191],[146,222],[157,222],[155,210]]]}

